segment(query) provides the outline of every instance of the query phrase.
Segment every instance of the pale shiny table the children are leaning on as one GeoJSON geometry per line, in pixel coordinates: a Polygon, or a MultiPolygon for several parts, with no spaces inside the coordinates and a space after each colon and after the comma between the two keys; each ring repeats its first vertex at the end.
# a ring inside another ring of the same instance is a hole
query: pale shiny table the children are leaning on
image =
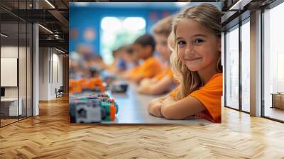
{"type": "Polygon", "coordinates": [[[102,124],[202,124],[211,122],[204,119],[168,120],[148,114],[148,103],[160,96],[138,94],[136,84],[130,83],[126,94],[110,94],[119,105],[119,113],[114,121],[103,121],[102,124]]]}

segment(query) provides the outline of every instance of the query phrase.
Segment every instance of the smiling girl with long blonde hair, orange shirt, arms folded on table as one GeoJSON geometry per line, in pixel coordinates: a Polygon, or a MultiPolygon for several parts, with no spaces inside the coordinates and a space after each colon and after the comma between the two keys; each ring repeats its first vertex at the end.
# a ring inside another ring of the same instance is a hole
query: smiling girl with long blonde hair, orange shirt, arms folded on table
{"type": "Polygon", "coordinates": [[[195,116],[221,123],[221,11],[212,4],[192,6],[173,20],[168,43],[180,86],[148,105],[166,119],[195,116]]]}

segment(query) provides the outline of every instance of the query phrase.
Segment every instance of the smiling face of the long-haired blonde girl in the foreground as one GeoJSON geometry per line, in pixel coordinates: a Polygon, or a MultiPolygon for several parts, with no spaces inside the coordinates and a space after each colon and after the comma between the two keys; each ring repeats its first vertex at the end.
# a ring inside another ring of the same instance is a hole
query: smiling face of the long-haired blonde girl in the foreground
{"type": "Polygon", "coordinates": [[[176,28],[178,57],[190,71],[216,67],[221,41],[196,21],[183,19],[176,28]]]}

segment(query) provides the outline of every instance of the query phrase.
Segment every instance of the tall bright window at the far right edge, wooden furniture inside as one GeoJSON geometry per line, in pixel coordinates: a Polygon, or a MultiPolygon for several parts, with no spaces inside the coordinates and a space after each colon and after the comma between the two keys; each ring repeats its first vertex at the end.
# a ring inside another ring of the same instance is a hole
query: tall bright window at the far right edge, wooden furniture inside
{"type": "Polygon", "coordinates": [[[263,13],[263,115],[280,121],[284,121],[283,15],[284,3],[263,13]]]}

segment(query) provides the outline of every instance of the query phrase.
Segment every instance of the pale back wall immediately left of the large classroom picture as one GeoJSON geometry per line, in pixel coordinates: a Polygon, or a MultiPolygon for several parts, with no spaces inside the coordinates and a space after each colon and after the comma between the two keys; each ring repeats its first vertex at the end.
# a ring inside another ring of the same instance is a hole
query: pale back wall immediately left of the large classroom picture
{"type": "Polygon", "coordinates": [[[39,52],[39,99],[55,99],[55,88],[62,86],[62,55],[54,48],[40,48],[39,52]]]}

